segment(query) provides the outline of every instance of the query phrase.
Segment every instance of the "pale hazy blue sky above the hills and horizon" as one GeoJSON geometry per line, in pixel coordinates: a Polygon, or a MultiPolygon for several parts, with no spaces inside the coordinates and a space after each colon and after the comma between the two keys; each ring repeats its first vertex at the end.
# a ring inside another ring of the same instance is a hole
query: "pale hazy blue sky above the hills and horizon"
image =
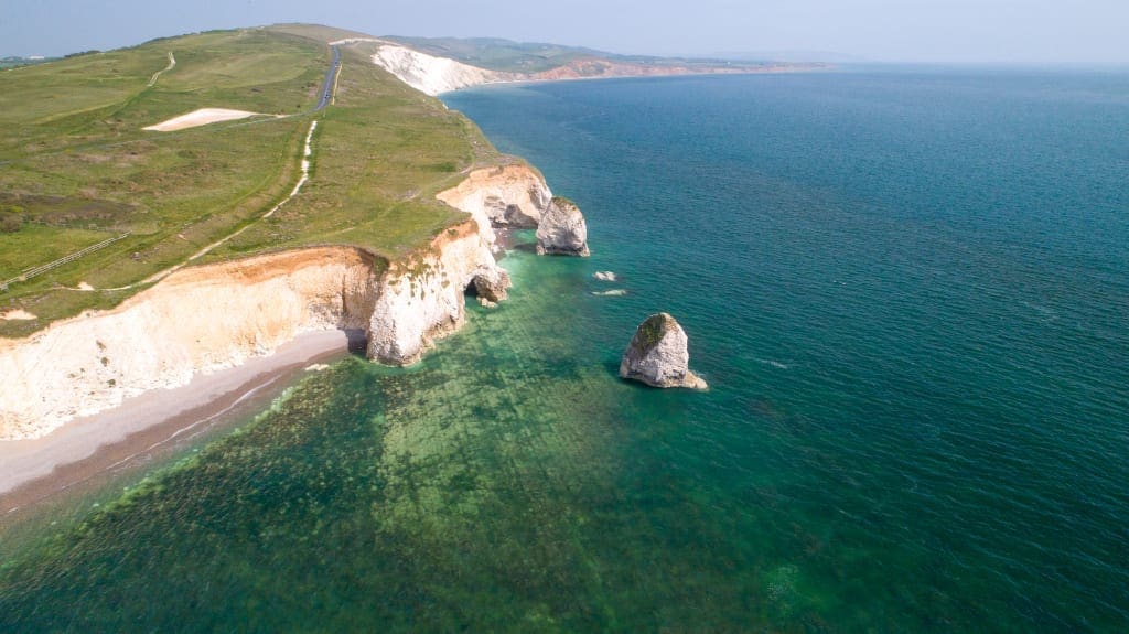
{"type": "Polygon", "coordinates": [[[0,0],[0,56],[291,21],[655,55],[1129,64],[1129,0],[0,0]]]}

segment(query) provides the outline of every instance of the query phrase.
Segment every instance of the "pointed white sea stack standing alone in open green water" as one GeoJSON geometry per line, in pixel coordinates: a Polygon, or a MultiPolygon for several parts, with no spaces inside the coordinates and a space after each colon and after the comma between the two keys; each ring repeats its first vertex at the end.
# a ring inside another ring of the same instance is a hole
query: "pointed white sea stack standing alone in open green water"
{"type": "Polygon", "coordinates": [[[706,381],[690,371],[686,333],[666,312],[639,324],[620,361],[620,376],[654,387],[706,389],[706,381]]]}

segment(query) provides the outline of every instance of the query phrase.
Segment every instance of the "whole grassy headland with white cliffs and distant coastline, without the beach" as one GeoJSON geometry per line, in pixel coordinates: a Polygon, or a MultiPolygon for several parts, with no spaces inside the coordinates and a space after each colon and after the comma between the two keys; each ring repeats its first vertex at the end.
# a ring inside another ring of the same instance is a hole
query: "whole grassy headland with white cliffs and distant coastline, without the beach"
{"type": "Polygon", "coordinates": [[[0,441],[303,333],[411,363],[460,327],[466,297],[506,298],[500,226],[586,255],[576,205],[428,95],[779,70],[496,45],[485,69],[457,42],[278,25],[5,71],[0,441]]]}

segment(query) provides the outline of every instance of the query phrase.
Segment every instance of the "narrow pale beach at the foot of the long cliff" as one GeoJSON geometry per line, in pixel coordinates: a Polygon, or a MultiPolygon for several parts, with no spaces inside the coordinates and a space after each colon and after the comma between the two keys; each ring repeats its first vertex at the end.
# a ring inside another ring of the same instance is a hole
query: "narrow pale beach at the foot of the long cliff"
{"type": "Polygon", "coordinates": [[[0,442],[0,516],[67,490],[159,449],[256,394],[289,382],[310,364],[348,353],[344,332],[305,333],[269,356],[198,375],[185,386],[156,389],[120,407],[75,419],[44,438],[0,442]]]}

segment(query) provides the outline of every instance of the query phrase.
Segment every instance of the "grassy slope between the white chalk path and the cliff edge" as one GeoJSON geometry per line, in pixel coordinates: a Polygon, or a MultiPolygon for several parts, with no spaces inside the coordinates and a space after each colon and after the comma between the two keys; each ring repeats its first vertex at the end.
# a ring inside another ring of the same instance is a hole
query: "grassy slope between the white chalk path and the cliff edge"
{"type": "Polygon", "coordinates": [[[435,194],[466,167],[500,157],[467,118],[374,65],[371,51],[342,50],[336,98],[320,122],[304,193],[216,257],[309,243],[399,257],[466,218],[435,194]]]}

